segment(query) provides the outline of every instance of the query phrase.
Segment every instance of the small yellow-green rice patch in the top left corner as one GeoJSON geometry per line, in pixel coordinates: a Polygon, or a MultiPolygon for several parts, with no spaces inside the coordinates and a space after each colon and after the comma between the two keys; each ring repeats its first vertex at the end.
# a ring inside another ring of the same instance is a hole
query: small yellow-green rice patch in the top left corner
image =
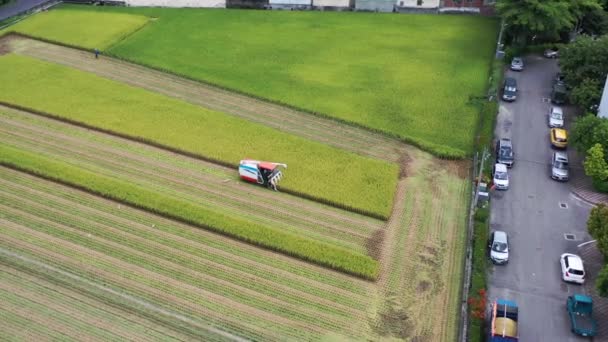
{"type": "Polygon", "coordinates": [[[4,32],[15,31],[67,45],[103,50],[137,31],[148,20],[136,14],[64,9],[38,13],[4,32]]]}

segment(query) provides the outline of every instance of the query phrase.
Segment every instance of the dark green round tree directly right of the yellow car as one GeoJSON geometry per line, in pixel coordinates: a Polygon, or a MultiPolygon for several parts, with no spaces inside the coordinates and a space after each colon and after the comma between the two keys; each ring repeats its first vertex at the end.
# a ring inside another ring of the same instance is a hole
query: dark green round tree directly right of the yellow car
{"type": "Polygon", "coordinates": [[[593,145],[608,141],[608,119],[587,114],[574,121],[570,143],[579,152],[587,152],[593,145]]]}

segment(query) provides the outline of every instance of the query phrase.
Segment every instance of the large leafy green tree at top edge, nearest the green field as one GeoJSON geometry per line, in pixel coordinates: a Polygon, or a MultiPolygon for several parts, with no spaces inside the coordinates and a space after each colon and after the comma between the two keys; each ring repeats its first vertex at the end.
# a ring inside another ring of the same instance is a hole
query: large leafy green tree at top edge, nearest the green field
{"type": "Polygon", "coordinates": [[[578,21],[570,0],[502,0],[496,3],[496,10],[523,44],[535,35],[555,40],[578,21]]]}

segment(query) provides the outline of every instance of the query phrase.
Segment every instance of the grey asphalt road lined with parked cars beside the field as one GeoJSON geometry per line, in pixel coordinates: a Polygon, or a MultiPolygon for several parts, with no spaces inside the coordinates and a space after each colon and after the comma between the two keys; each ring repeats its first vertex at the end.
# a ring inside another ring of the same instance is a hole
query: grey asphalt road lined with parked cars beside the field
{"type": "MultiPolygon", "coordinates": [[[[492,267],[489,296],[519,304],[521,341],[578,341],[570,332],[565,303],[569,293],[584,289],[561,281],[559,256],[575,253],[577,244],[589,240],[591,206],[572,195],[568,183],[549,177],[550,104],[543,98],[549,97],[557,63],[540,56],[525,62],[525,71],[508,72],[520,92],[516,102],[501,105],[496,127],[497,137],[513,139],[516,161],[510,189],[494,193],[491,229],[509,234],[511,253],[508,265],[492,267]],[[566,233],[575,241],[566,240],[566,233]]],[[[565,112],[569,119],[571,111],[565,112]]]]}

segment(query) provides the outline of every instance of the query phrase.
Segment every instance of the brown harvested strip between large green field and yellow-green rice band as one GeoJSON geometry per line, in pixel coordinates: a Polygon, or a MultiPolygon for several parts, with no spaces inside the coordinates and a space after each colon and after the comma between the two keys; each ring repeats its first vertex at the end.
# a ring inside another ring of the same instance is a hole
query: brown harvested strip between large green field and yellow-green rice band
{"type": "MultiPolygon", "coordinates": [[[[313,141],[399,163],[409,148],[382,134],[219,89],[121,60],[21,36],[5,37],[9,51],[63,64],[115,81],[239,116],[313,141]]],[[[1,43],[1,42],[0,42],[1,43]]]]}

